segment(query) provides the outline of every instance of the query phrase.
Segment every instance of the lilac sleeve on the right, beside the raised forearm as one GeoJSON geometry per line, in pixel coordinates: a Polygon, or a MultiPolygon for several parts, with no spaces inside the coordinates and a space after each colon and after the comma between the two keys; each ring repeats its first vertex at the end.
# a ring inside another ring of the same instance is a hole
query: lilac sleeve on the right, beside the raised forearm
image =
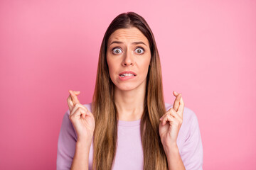
{"type": "MultiPolygon", "coordinates": [[[[193,111],[192,111],[193,112],[193,111]]],[[[203,145],[196,114],[192,114],[191,125],[181,151],[186,170],[203,169],[203,145]]]]}

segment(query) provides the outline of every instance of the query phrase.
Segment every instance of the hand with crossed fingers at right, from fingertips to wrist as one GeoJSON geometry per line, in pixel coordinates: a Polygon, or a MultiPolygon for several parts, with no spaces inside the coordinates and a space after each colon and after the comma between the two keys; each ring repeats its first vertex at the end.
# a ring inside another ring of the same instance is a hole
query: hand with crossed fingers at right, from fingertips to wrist
{"type": "Polygon", "coordinates": [[[178,132],[183,122],[184,103],[181,94],[174,91],[176,99],[174,105],[161,118],[159,124],[159,135],[164,148],[171,148],[176,146],[178,132]]]}

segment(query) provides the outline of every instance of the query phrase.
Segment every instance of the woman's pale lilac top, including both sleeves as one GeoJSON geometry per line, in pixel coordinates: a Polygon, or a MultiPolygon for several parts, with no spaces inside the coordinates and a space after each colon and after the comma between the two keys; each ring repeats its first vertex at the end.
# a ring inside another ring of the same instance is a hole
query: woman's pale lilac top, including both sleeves
{"type": "MultiPolygon", "coordinates": [[[[91,110],[91,103],[84,104],[91,110]]],[[[165,103],[166,111],[173,105],[165,103]]],[[[57,170],[70,169],[75,154],[77,134],[69,119],[70,111],[66,111],[58,137],[57,170]]],[[[183,123],[178,132],[177,145],[186,170],[203,169],[203,145],[196,114],[184,107],[183,123]]],[[[92,170],[93,143],[90,147],[89,170],[92,170]]],[[[143,149],[140,137],[140,119],[135,121],[118,120],[117,153],[113,162],[113,170],[142,170],[143,149]]]]}

